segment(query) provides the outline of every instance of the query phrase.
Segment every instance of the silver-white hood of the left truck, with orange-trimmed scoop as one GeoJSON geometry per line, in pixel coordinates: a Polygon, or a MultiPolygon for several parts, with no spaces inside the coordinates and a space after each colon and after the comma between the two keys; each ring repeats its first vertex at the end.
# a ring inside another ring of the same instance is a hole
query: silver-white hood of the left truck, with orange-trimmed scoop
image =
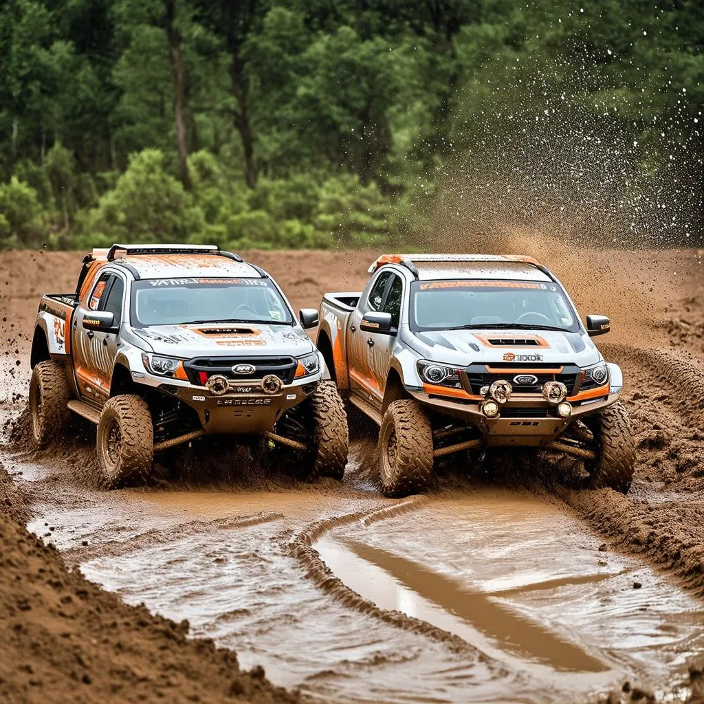
{"type": "Polygon", "coordinates": [[[222,325],[152,325],[132,331],[151,351],[171,357],[247,357],[290,355],[313,351],[303,329],[288,325],[232,323],[222,325]]]}

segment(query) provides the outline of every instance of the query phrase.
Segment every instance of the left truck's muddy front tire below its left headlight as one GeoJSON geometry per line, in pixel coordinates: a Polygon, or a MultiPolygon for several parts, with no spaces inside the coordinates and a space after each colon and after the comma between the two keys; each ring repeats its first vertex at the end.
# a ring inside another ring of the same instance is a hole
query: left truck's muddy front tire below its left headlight
{"type": "Polygon", "coordinates": [[[154,459],[154,429],[144,399],[125,394],[103,406],[97,451],[108,489],[146,482],[154,459]]]}

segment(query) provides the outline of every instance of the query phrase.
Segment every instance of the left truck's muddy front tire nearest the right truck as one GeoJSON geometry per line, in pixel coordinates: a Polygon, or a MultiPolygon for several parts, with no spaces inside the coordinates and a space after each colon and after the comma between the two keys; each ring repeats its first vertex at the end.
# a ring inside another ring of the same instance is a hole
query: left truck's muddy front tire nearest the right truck
{"type": "Polygon", "coordinates": [[[332,477],[341,481],[349,449],[344,401],[335,382],[320,382],[308,398],[313,413],[312,470],[309,479],[332,477]]]}

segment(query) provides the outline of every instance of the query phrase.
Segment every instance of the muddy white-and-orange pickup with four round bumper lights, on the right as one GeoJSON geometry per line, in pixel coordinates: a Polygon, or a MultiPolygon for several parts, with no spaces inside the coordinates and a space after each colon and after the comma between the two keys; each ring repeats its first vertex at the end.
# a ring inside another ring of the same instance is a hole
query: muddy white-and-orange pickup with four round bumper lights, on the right
{"type": "Polygon", "coordinates": [[[628,491],[622,372],[591,341],[608,318],[588,315],[585,329],[558,279],[529,257],[384,255],[369,272],[361,293],[323,298],[318,349],[380,426],[387,496],[426,489],[438,458],[479,461],[490,446],[562,453],[557,465],[570,464],[578,486],[628,491]]]}

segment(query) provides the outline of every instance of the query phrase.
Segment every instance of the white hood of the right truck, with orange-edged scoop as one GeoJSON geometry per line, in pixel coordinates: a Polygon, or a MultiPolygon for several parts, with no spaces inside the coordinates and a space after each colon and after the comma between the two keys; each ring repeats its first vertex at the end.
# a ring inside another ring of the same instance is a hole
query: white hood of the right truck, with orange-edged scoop
{"type": "Polygon", "coordinates": [[[474,363],[596,364],[602,357],[586,332],[557,330],[438,330],[404,338],[427,360],[467,366],[474,363]]]}

